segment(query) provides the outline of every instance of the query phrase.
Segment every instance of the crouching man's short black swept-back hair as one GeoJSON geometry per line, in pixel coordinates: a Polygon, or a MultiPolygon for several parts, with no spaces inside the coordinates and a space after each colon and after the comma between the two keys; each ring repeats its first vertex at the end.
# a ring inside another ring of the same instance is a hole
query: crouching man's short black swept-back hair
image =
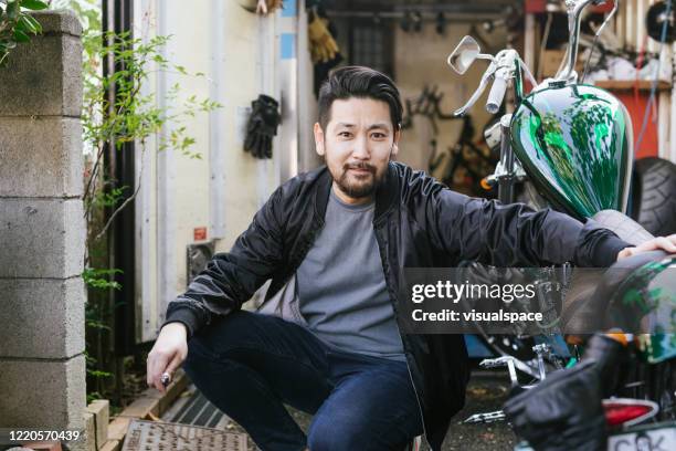
{"type": "Polygon", "coordinates": [[[346,66],[332,72],[319,90],[319,125],[326,132],[331,105],[336,99],[350,97],[382,101],[390,106],[394,130],[401,128],[403,107],[399,90],[385,74],[365,66],[346,66]]]}

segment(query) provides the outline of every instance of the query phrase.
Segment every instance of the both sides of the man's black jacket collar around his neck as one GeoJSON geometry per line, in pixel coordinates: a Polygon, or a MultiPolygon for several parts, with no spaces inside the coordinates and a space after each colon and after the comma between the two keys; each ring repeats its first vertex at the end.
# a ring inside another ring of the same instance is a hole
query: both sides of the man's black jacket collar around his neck
{"type": "MultiPolygon", "coordinates": [[[[326,216],[326,206],[328,204],[329,195],[334,179],[326,166],[323,166],[317,180],[317,190],[315,197],[315,212],[320,223],[324,223],[326,216]]],[[[399,191],[399,178],[397,177],[395,165],[390,161],[382,185],[376,191],[376,212],[373,214],[373,223],[378,223],[392,209],[397,200],[399,191]]]]}

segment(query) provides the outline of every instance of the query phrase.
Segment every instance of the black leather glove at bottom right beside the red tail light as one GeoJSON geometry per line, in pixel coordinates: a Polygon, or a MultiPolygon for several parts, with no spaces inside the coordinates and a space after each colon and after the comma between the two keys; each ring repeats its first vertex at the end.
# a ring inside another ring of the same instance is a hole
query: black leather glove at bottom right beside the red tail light
{"type": "Polygon", "coordinates": [[[605,450],[601,399],[623,349],[614,339],[594,335],[581,364],[508,399],[504,411],[515,432],[537,451],[605,450]]]}

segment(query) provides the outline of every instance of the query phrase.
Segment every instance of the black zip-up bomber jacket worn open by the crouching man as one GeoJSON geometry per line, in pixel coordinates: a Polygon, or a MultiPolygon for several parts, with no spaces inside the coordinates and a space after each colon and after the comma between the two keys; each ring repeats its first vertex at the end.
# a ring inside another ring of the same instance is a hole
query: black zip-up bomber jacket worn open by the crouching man
{"type": "MultiPolygon", "coordinates": [[[[192,336],[213,315],[240,308],[267,280],[266,300],[277,293],[324,226],[331,181],[321,167],[277,188],[232,250],[214,255],[188,291],[169,304],[165,324],[182,322],[192,336]]],[[[373,227],[395,312],[403,268],[451,268],[462,260],[497,266],[567,261],[610,266],[627,245],[591,221],[582,226],[551,210],[535,212],[520,203],[469,198],[399,162],[389,164],[376,193],[373,227]]],[[[463,336],[401,338],[427,441],[439,450],[451,417],[465,401],[469,371],[463,336]]]]}

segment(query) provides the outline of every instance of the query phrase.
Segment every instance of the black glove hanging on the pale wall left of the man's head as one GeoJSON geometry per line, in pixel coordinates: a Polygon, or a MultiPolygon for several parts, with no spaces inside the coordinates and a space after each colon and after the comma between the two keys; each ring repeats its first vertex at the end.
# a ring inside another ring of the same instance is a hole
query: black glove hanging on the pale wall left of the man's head
{"type": "Polygon", "coordinates": [[[279,104],[265,94],[251,103],[244,150],[255,158],[272,158],[272,140],[281,122],[279,104]]]}

